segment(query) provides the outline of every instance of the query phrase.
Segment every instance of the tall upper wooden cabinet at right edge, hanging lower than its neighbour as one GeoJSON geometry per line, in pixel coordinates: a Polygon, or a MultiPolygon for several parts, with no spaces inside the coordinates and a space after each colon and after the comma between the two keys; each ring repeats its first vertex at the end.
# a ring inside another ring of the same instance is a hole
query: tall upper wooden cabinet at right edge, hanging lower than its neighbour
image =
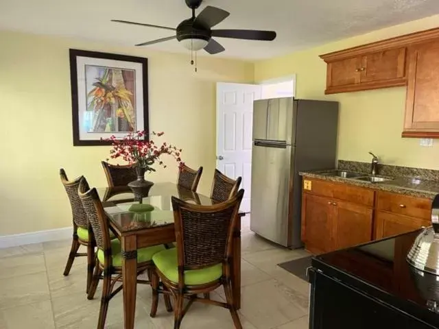
{"type": "Polygon", "coordinates": [[[439,138],[439,38],[411,47],[403,137],[439,138]]]}

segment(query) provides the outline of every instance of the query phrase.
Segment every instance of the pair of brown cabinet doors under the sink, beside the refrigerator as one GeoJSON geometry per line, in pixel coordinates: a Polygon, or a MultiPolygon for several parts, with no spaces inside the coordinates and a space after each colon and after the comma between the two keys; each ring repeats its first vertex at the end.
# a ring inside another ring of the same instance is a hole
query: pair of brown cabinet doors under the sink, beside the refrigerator
{"type": "Polygon", "coordinates": [[[303,193],[302,241],[313,254],[372,240],[372,209],[303,193]]]}

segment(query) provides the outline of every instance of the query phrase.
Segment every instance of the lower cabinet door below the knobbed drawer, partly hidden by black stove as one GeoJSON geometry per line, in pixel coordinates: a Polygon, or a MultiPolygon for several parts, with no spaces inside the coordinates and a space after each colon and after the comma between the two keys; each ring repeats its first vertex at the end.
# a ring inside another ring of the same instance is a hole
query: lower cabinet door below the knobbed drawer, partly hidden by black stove
{"type": "Polygon", "coordinates": [[[431,221],[392,214],[392,212],[377,211],[375,212],[374,239],[382,239],[387,236],[407,233],[423,226],[431,226],[431,221]]]}

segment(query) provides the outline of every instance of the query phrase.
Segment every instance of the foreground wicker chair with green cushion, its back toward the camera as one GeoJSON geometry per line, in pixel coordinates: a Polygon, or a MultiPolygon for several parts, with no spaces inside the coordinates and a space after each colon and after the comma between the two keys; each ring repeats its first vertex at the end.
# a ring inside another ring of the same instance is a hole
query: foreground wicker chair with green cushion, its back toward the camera
{"type": "Polygon", "coordinates": [[[235,328],[242,328],[233,302],[230,267],[233,230],[243,195],[241,190],[228,201],[213,206],[187,204],[171,198],[177,247],[152,256],[156,271],[152,273],[151,317],[157,311],[156,290],[160,278],[167,293],[174,297],[174,329],[180,328],[182,318],[195,301],[228,308],[235,328]],[[219,286],[224,287],[226,303],[198,297],[219,286]],[[185,299],[189,302],[183,308],[185,299]]]}

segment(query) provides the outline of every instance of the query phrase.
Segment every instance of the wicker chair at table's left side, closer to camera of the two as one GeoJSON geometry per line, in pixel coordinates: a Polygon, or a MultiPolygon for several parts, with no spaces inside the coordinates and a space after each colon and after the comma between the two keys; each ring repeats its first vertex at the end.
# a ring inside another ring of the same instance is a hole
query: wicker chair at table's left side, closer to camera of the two
{"type": "MultiPolygon", "coordinates": [[[[97,289],[97,284],[100,279],[103,279],[101,307],[97,322],[97,329],[103,329],[105,326],[108,304],[111,298],[123,289],[123,284],[115,289],[115,284],[123,280],[121,243],[118,239],[110,239],[110,234],[108,232],[108,218],[105,215],[96,188],[90,189],[86,179],[82,178],[78,188],[78,194],[82,205],[84,206],[88,221],[93,229],[94,241],[97,245],[96,266],[87,298],[89,300],[93,299],[97,289]]],[[[146,247],[137,250],[138,275],[147,271],[148,277],[152,278],[152,272],[154,271],[152,256],[156,254],[156,252],[161,252],[162,250],[165,250],[163,245],[155,245],[153,247],[146,247]]],[[[137,280],[137,282],[151,284],[150,280],[137,280]]],[[[171,312],[172,306],[169,300],[169,295],[165,295],[165,304],[167,310],[171,312]]]]}

